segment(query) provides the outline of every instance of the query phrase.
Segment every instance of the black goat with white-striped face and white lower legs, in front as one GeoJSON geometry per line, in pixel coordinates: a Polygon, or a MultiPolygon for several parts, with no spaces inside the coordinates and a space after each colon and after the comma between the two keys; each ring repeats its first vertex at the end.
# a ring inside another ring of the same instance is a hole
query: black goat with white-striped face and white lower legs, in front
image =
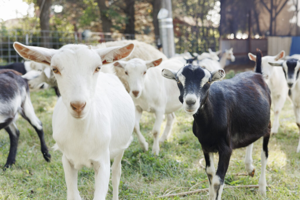
{"type": "MultiPolygon", "coordinates": [[[[258,53],[257,59],[260,58],[258,53]]],[[[194,117],[193,133],[204,153],[211,200],[221,199],[232,149],[247,146],[246,170],[249,175],[254,175],[251,154],[253,142],[260,137],[263,137],[263,145],[259,192],[266,194],[271,96],[259,64],[256,72],[244,72],[232,79],[215,82],[225,76],[223,69],[210,72],[189,64],[179,71],[162,70],[164,77],[176,80],[179,100],[185,112],[194,117]],[[212,82],[215,83],[211,85],[212,82]],[[213,153],[216,152],[219,152],[219,163],[215,173],[213,153]]]]}

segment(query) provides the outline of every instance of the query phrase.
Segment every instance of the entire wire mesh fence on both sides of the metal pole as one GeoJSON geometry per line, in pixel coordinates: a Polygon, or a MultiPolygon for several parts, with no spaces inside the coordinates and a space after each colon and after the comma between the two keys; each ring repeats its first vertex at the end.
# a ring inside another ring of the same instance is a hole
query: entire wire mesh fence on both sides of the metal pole
{"type": "MultiPolygon", "coordinates": [[[[219,47],[219,37],[217,28],[190,27],[185,25],[175,26],[175,51],[176,53],[207,52],[208,48],[217,50],[219,47]],[[199,29],[199,30],[198,30],[199,29]]],[[[13,49],[13,42],[29,46],[43,46],[47,48],[59,49],[65,44],[87,44],[97,45],[98,43],[115,40],[139,40],[155,46],[159,36],[154,34],[121,34],[73,31],[40,31],[22,29],[0,29],[0,65],[21,62],[22,58],[13,49]]]]}

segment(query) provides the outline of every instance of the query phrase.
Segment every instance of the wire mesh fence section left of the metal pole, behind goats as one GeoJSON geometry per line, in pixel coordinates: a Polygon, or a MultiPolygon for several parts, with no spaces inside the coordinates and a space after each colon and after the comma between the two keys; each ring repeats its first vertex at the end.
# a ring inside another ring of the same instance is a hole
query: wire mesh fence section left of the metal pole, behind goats
{"type": "Polygon", "coordinates": [[[142,34],[2,29],[0,30],[0,65],[22,61],[22,58],[13,49],[13,42],[15,41],[29,46],[44,46],[59,49],[61,46],[70,43],[96,45],[102,42],[124,39],[137,39],[155,45],[155,37],[142,34]]]}

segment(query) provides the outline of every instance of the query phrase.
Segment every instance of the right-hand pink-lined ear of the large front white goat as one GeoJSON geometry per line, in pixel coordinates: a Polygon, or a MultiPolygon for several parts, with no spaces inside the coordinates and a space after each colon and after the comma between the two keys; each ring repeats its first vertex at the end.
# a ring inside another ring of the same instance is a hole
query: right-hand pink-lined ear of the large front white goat
{"type": "Polygon", "coordinates": [[[108,64],[113,61],[128,57],[134,49],[134,44],[125,46],[110,46],[102,49],[95,49],[101,57],[102,64],[108,64]]]}

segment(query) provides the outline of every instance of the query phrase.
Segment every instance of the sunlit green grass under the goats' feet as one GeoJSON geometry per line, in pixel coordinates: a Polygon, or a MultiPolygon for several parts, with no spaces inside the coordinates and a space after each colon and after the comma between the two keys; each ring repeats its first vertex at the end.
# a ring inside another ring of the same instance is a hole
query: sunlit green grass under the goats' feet
{"type": "MultiPolygon", "coordinates": [[[[52,139],[52,112],[56,102],[52,90],[31,94],[35,112],[43,122],[46,144],[54,145],[52,139]]],[[[273,118],[273,113],[271,114],[273,118]]],[[[207,188],[205,170],[200,168],[199,160],[203,158],[201,146],[193,135],[192,116],[183,110],[176,112],[173,134],[169,141],[161,145],[159,156],[151,154],[151,129],[154,117],[147,112],[141,119],[141,131],[149,142],[150,150],[143,152],[137,138],[125,151],[122,160],[122,177],[119,187],[120,199],[155,199],[164,193],[184,192],[207,188]]],[[[0,199],[66,199],[66,185],[61,163],[61,153],[50,150],[51,162],[46,163],[41,151],[40,142],[34,129],[27,121],[19,118],[16,122],[20,130],[20,139],[16,164],[6,171],[0,171],[0,199]]],[[[165,125],[162,125],[162,130],[165,125]]],[[[297,154],[299,130],[295,124],[292,106],[286,101],[280,114],[280,129],[269,142],[269,159],[266,180],[267,198],[265,199],[299,199],[300,198],[300,154],[297,154]]],[[[262,139],[254,143],[253,165],[256,168],[254,177],[237,176],[245,173],[245,148],[233,151],[229,169],[225,177],[226,185],[258,184],[260,175],[260,151],[262,139]]],[[[0,133],[0,167],[3,168],[9,151],[8,134],[0,133]]],[[[217,166],[215,154],[215,167],[217,166]]],[[[202,163],[205,165],[205,161],[202,163]]],[[[83,168],[78,174],[78,189],[83,199],[93,199],[94,172],[83,168]]],[[[198,193],[184,197],[166,199],[208,199],[208,193],[198,193]]],[[[112,199],[110,182],[107,199],[112,199]]],[[[222,199],[263,199],[257,189],[225,189],[222,199]]]]}

